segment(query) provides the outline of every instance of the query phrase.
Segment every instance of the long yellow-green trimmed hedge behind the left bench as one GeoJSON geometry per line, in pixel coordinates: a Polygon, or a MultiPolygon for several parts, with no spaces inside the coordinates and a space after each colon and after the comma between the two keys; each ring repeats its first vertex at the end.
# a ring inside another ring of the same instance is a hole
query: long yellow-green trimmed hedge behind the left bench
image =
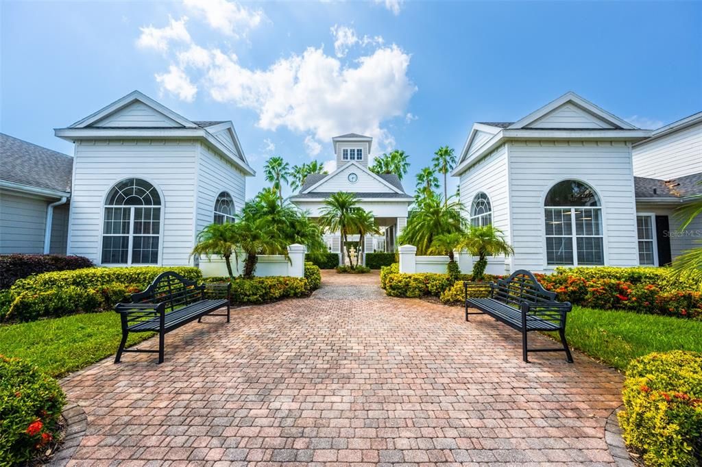
{"type": "Polygon", "coordinates": [[[128,301],[164,271],[176,271],[191,280],[202,273],[189,266],[137,266],[55,271],[17,280],[0,296],[0,320],[32,321],[39,318],[93,313],[128,301]]]}

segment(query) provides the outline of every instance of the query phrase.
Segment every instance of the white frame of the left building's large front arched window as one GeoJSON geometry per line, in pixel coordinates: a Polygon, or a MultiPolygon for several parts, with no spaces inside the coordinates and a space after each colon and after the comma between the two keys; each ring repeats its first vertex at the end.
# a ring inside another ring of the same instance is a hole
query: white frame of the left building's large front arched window
{"type": "Polygon", "coordinates": [[[101,215],[100,215],[100,245],[98,245],[98,255],[99,255],[99,262],[101,266],[109,266],[109,267],[124,267],[124,266],[160,266],[161,265],[161,258],[163,254],[163,247],[164,247],[164,211],[166,207],[166,203],[164,201],[164,195],[161,193],[161,190],[157,187],[157,185],[152,182],[152,180],[149,180],[145,177],[126,177],[123,178],[114,184],[110,186],[110,189],[107,190],[105,193],[105,196],[102,197],[104,200],[102,202],[101,206],[101,215]],[[138,205],[138,206],[130,206],[130,205],[108,205],[107,204],[107,196],[110,196],[112,193],[112,189],[114,187],[117,187],[121,182],[124,182],[125,180],[131,180],[131,179],[138,179],[138,180],[143,180],[144,182],[147,182],[152,186],[152,189],[156,191],[156,193],[159,196],[159,200],[161,201],[160,205],[138,205]],[[105,263],[102,262],[102,246],[104,245],[104,239],[105,237],[124,237],[126,234],[105,234],[105,210],[107,208],[128,208],[129,209],[129,240],[128,240],[128,250],[127,250],[127,262],[126,263],[105,263]],[[132,253],[133,253],[133,245],[134,245],[134,214],[135,214],[135,209],[136,208],[159,208],[159,233],[158,234],[138,234],[136,236],[139,237],[158,237],[159,238],[159,246],[158,246],[158,251],[157,251],[157,262],[155,263],[134,263],[132,262],[132,253]]]}

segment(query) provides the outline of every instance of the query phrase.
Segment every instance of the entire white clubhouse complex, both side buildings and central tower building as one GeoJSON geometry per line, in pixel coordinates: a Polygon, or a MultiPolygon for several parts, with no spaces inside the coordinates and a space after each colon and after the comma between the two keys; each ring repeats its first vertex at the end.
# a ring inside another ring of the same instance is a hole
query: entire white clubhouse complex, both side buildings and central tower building
{"type": "MultiPolygon", "coordinates": [[[[55,135],[73,156],[0,134],[0,254],[81,255],[95,264],[197,264],[197,234],[244,204],[255,175],[230,121],[190,121],[134,91],[55,135]]],[[[371,137],[334,137],[336,170],[310,175],[291,201],[319,216],[357,195],[397,250],[413,198],[397,175],[368,168],[371,137]]],[[[702,238],[675,208],[702,194],[702,112],[642,130],[567,93],[514,122],[475,123],[452,175],[472,224],[515,249],[489,272],[557,266],[661,266],[702,238]]],[[[351,238],[359,241],[359,238],[351,238]]],[[[338,234],[326,235],[340,253],[338,234]]]]}

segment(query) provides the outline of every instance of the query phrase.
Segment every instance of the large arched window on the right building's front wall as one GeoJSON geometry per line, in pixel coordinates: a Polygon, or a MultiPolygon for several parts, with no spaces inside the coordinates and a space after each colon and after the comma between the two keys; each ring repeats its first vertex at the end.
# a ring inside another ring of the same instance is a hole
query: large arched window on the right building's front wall
{"type": "Polygon", "coordinates": [[[595,190],[564,180],[551,187],[544,205],[547,264],[604,264],[602,207],[595,190]]]}

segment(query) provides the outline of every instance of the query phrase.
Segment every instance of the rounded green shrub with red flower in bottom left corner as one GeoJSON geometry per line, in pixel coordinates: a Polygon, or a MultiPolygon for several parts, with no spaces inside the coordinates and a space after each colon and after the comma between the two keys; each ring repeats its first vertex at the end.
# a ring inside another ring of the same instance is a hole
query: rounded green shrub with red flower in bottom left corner
{"type": "Polygon", "coordinates": [[[37,457],[53,440],[65,401],[55,379],[18,358],[0,355],[0,465],[37,457]]]}

